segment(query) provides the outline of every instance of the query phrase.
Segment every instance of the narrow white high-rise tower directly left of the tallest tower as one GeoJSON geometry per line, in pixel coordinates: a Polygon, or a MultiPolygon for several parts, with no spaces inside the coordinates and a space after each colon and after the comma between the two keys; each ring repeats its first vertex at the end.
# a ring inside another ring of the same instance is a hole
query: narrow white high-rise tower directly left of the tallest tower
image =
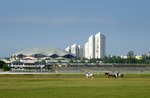
{"type": "Polygon", "coordinates": [[[93,35],[91,35],[89,37],[89,40],[88,40],[88,48],[89,48],[89,59],[90,58],[95,58],[95,38],[93,35]]]}

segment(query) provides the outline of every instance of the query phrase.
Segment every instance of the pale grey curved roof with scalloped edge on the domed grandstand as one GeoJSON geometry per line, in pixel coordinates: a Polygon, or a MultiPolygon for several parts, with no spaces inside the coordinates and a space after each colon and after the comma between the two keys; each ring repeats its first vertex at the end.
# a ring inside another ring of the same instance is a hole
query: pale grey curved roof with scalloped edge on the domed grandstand
{"type": "Polygon", "coordinates": [[[71,55],[73,57],[75,57],[74,54],[60,50],[60,49],[56,49],[56,48],[28,48],[28,49],[24,49],[21,50],[19,52],[14,53],[13,55],[25,55],[25,56],[32,56],[32,55],[36,55],[36,54],[41,54],[41,55],[45,55],[45,56],[53,56],[53,55],[57,55],[57,56],[67,56],[67,55],[71,55]]]}

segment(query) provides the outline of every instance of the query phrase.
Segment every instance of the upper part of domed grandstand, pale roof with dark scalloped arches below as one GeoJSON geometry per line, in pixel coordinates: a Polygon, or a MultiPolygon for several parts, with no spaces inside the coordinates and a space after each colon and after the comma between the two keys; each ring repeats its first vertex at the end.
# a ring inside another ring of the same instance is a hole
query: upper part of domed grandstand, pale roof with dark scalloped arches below
{"type": "Polygon", "coordinates": [[[28,48],[18,51],[11,55],[11,60],[22,59],[24,57],[34,57],[42,59],[49,57],[51,59],[57,58],[74,58],[75,55],[57,48],[28,48]]]}

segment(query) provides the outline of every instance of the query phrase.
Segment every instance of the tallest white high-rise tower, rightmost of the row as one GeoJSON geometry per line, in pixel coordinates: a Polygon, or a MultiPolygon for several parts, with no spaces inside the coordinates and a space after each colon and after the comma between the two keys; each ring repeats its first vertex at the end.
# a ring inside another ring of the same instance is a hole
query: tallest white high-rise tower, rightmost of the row
{"type": "Polygon", "coordinates": [[[95,58],[104,58],[106,55],[105,36],[98,32],[95,35],[95,58]]]}

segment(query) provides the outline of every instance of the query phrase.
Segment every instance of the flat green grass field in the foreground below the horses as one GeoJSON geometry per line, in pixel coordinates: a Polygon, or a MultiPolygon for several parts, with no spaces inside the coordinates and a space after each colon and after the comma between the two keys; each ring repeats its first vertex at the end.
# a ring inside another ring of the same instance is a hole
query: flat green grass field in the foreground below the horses
{"type": "Polygon", "coordinates": [[[0,75],[0,98],[149,98],[150,75],[0,75]]]}

